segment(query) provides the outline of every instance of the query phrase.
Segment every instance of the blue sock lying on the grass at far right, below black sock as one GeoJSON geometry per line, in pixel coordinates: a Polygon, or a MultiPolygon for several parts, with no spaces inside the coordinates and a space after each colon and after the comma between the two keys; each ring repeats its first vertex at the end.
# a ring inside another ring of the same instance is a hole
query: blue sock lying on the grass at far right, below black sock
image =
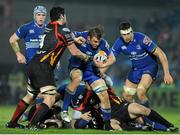
{"type": "Polygon", "coordinates": [[[144,117],[144,122],[151,125],[153,127],[153,129],[155,129],[155,130],[167,131],[167,127],[165,127],[164,125],[159,124],[157,122],[151,121],[147,117],[144,117]]]}

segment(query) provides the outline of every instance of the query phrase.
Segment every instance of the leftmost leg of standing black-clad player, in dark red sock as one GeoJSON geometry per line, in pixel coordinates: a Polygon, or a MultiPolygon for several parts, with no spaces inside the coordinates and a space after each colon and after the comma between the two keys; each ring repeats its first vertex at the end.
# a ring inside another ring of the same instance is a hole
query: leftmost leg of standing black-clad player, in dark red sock
{"type": "Polygon", "coordinates": [[[22,116],[22,114],[25,112],[25,110],[28,108],[29,104],[32,103],[32,101],[36,97],[36,90],[32,89],[30,85],[27,85],[27,94],[24,98],[22,98],[17,106],[16,110],[14,111],[14,114],[10,120],[10,122],[7,123],[6,127],[8,128],[23,128],[22,125],[18,124],[19,118],[22,116]]]}

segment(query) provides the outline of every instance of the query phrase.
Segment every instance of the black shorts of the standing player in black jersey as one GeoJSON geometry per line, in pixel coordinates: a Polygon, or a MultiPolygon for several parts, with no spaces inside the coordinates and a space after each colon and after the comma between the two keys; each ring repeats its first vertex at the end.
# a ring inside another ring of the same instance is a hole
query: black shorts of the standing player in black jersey
{"type": "Polygon", "coordinates": [[[48,63],[32,59],[27,67],[28,84],[35,90],[44,86],[56,86],[53,70],[48,63]]]}

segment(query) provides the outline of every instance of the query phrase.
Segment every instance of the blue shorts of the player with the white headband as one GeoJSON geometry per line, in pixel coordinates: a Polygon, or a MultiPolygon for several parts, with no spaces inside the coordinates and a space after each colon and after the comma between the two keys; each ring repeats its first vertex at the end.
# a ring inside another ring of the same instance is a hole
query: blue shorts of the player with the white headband
{"type": "Polygon", "coordinates": [[[158,72],[158,65],[157,64],[151,64],[149,66],[146,66],[143,69],[136,69],[136,68],[131,68],[129,74],[128,74],[128,80],[138,84],[142,78],[143,74],[149,74],[152,79],[156,79],[156,75],[158,72]]]}

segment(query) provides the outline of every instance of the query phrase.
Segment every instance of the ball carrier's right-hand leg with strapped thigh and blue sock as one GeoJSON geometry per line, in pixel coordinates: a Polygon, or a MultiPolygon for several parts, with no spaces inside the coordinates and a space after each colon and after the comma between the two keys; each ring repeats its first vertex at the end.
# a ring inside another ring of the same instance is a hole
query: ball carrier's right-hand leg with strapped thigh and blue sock
{"type": "Polygon", "coordinates": [[[101,103],[101,112],[103,114],[103,120],[105,122],[105,129],[112,130],[110,125],[111,119],[111,105],[109,101],[109,95],[107,93],[107,86],[103,79],[98,79],[91,83],[91,88],[98,95],[101,103]]]}

